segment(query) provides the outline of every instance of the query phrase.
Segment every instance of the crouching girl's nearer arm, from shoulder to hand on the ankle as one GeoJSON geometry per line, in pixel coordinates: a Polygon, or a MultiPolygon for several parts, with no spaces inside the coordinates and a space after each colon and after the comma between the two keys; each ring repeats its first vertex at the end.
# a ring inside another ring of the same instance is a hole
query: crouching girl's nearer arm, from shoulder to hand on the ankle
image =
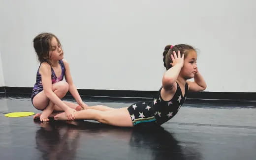
{"type": "Polygon", "coordinates": [[[55,105],[61,107],[68,117],[69,120],[74,119],[72,117],[72,112],[74,109],[71,109],[64,102],[53,92],[52,90],[52,71],[51,67],[48,63],[42,63],[40,66],[39,73],[41,74],[42,84],[43,84],[43,91],[47,98],[52,101],[55,105]]]}

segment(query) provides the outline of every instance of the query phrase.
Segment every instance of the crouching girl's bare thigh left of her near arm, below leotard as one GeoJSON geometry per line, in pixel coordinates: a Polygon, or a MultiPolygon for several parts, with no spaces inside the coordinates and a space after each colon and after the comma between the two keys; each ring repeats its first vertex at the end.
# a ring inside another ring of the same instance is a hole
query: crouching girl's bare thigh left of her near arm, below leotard
{"type": "Polygon", "coordinates": [[[49,101],[50,100],[46,97],[44,91],[42,90],[34,96],[32,103],[35,108],[42,110],[48,106],[49,101]]]}

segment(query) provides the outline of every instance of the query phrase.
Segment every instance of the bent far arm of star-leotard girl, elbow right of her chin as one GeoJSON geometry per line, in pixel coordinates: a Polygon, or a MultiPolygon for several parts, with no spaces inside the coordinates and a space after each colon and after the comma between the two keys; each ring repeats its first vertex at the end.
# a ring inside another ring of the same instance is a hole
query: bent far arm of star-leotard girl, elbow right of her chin
{"type": "Polygon", "coordinates": [[[207,87],[206,82],[198,71],[194,75],[194,82],[187,80],[187,83],[189,84],[189,91],[192,92],[200,92],[205,90],[207,87]]]}

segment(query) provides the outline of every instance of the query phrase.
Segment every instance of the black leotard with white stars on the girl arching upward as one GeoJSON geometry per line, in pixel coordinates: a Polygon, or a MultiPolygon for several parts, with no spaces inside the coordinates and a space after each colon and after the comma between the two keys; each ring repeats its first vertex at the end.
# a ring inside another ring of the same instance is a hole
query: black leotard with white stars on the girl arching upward
{"type": "Polygon", "coordinates": [[[128,107],[133,126],[137,124],[156,124],[160,126],[170,120],[177,114],[180,107],[185,102],[189,86],[188,83],[185,84],[185,94],[183,96],[181,88],[177,83],[177,90],[173,98],[169,101],[164,101],[161,98],[161,89],[162,87],[153,101],[135,103],[128,107]]]}

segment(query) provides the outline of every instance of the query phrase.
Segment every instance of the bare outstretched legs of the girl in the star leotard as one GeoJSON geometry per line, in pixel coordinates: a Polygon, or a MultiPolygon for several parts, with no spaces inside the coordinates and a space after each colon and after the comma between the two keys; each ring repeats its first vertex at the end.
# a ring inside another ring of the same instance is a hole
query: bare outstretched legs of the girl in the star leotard
{"type": "MultiPolygon", "coordinates": [[[[130,114],[126,108],[112,109],[108,111],[101,111],[95,109],[85,109],[74,112],[75,119],[96,120],[98,122],[120,126],[133,127],[130,114]]],[[[65,113],[57,114],[55,120],[67,120],[65,113]]]]}

